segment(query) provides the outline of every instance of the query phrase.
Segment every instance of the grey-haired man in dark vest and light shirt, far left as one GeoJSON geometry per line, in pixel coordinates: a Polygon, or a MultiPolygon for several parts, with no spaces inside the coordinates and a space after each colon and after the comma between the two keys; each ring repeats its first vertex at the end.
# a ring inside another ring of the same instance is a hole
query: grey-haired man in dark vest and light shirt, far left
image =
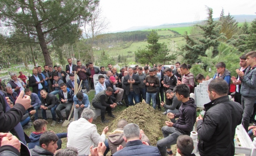
{"type": "Polygon", "coordinates": [[[16,92],[18,95],[21,90],[25,90],[26,85],[23,81],[17,79],[16,73],[11,73],[11,80],[7,83],[7,87],[12,88],[12,92],[16,92]]]}

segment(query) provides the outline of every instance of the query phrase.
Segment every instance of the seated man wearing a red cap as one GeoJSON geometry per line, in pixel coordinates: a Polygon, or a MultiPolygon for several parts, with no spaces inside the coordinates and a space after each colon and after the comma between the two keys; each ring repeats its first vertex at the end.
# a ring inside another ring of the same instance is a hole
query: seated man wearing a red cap
{"type": "Polygon", "coordinates": [[[114,95],[116,95],[116,104],[118,105],[123,105],[122,98],[123,98],[123,94],[124,94],[124,89],[121,88],[116,88],[116,86],[114,85],[114,83],[116,83],[116,79],[114,76],[110,76],[110,79],[105,81],[106,87],[111,87],[113,89],[113,93],[114,95]]]}

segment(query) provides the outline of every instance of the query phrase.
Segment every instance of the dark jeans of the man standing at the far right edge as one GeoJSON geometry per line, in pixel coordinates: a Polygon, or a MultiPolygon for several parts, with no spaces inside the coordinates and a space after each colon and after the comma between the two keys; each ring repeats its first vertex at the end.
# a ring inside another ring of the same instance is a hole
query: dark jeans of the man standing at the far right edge
{"type": "Polygon", "coordinates": [[[242,107],[244,109],[242,125],[245,131],[248,132],[250,117],[253,113],[253,106],[256,101],[256,97],[241,97],[242,107]]]}

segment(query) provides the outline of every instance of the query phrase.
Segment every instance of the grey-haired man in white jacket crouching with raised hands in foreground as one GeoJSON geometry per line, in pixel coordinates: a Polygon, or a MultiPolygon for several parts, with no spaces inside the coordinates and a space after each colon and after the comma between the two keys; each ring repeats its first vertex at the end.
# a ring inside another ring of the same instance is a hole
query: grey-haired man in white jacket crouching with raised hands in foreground
{"type": "Polygon", "coordinates": [[[92,124],[95,113],[91,109],[84,109],[81,118],[70,123],[67,128],[67,147],[76,147],[78,155],[89,155],[90,147],[97,147],[99,142],[104,142],[107,149],[104,156],[109,151],[106,133],[108,126],[98,134],[96,125],[92,124]],[[81,131],[82,130],[82,131],[81,131]]]}

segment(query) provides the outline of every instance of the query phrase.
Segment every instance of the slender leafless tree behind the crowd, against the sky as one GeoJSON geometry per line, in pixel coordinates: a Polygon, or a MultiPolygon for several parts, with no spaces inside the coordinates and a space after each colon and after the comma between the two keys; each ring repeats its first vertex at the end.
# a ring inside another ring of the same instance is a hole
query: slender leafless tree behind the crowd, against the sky
{"type": "Polygon", "coordinates": [[[91,16],[84,22],[84,33],[90,46],[89,54],[91,61],[94,62],[93,44],[97,35],[104,33],[109,26],[109,21],[102,15],[102,9],[97,6],[91,11],[91,16]]]}

